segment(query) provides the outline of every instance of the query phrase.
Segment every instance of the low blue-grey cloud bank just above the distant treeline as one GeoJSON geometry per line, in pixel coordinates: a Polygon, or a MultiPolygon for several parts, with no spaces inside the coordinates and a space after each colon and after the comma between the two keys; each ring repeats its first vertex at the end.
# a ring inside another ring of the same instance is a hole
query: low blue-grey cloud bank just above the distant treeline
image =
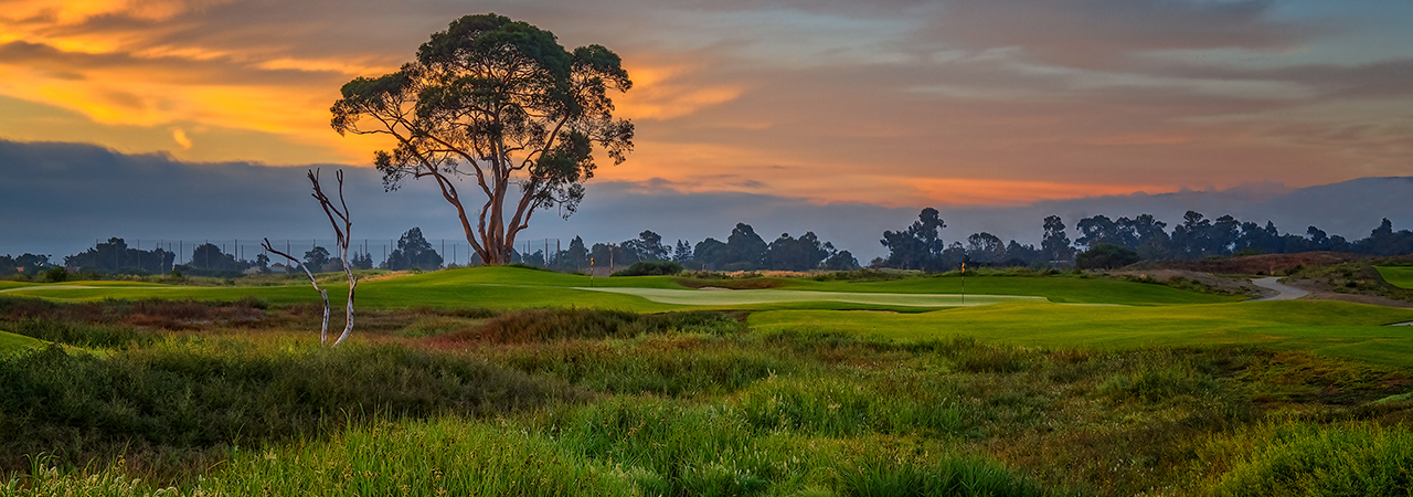
{"type": "MultiPolygon", "coordinates": [[[[332,178],[335,165],[324,165],[332,178]]],[[[454,213],[431,189],[413,182],[383,191],[376,171],[345,168],[346,192],[357,240],[377,247],[418,226],[439,240],[461,239],[454,213]]],[[[48,253],[55,257],[90,247],[97,239],[300,240],[331,237],[326,220],[308,196],[305,168],[243,162],[189,164],[164,155],[127,155],[72,143],[0,141],[0,254],[48,253]]],[[[524,240],[584,236],[589,243],[633,239],[650,229],[664,240],[723,240],[738,222],[766,239],[814,232],[862,260],[882,256],[886,229],[916,220],[921,206],[883,208],[869,203],[812,203],[757,193],[682,193],[668,181],[596,182],[582,209],[562,220],[536,217],[524,240]]],[[[1153,213],[1169,223],[1194,209],[1217,217],[1273,220],[1286,232],[1316,224],[1331,234],[1358,239],[1389,217],[1413,226],[1413,178],[1364,178],[1344,184],[1289,189],[1249,185],[1219,192],[1133,193],[1047,200],[1017,208],[938,206],[948,223],[945,240],[989,232],[1005,240],[1039,243],[1044,216],[1060,215],[1071,227],[1081,217],[1153,213]]],[[[538,241],[537,241],[538,243],[538,241]]],[[[552,241],[551,241],[552,246],[552,241]]],[[[465,257],[465,244],[459,257],[465,257]]],[[[374,250],[376,253],[376,250],[374,250]]]]}

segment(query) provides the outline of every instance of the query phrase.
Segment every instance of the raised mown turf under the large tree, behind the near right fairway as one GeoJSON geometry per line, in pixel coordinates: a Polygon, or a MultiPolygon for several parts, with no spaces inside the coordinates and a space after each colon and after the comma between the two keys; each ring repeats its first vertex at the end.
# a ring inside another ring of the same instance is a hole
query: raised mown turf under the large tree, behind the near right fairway
{"type": "MultiPolygon", "coordinates": [[[[589,278],[584,275],[534,271],[507,267],[479,267],[437,271],[359,284],[357,305],[363,308],[415,308],[415,306],[483,306],[483,308],[533,308],[533,306],[592,306],[636,312],[661,312],[682,309],[688,305],[732,306],[745,309],[777,308],[887,308],[897,306],[950,306],[959,304],[955,297],[869,297],[865,294],[944,294],[961,292],[961,278],[909,278],[897,281],[845,282],[812,281],[798,278],[767,280],[777,289],[746,291],[740,295],[723,291],[695,291],[678,284],[675,277],[620,277],[589,278]],[[613,291],[588,291],[581,288],[613,288],[613,291]],[[650,291],[649,291],[650,289],[650,291]],[[616,292],[615,292],[616,291],[616,292]],[[667,292],[678,291],[678,292],[667,292]],[[770,294],[779,292],[779,294],[770,294]],[[807,292],[842,292],[846,295],[817,295],[807,292]],[[657,297],[657,301],[642,295],[657,297]],[[749,297],[747,297],[749,295],[749,297]],[[899,304],[904,302],[904,304],[899,304]]],[[[346,287],[325,284],[329,298],[342,301],[346,287]]],[[[318,294],[307,284],[280,287],[181,287],[147,282],[65,282],[55,285],[32,285],[11,291],[11,295],[40,297],[55,301],[95,299],[203,299],[235,301],[244,297],[285,305],[317,302],[318,294]],[[75,288],[83,287],[83,288],[75,288]]],[[[983,295],[1040,297],[1051,302],[1089,304],[1211,304],[1239,301],[1239,297],[1210,295],[1181,291],[1170,287],[1115,281],[1106,278],[1057,277],[974,277],[966,281],[966,294],[976,301],[983,295]]]]}

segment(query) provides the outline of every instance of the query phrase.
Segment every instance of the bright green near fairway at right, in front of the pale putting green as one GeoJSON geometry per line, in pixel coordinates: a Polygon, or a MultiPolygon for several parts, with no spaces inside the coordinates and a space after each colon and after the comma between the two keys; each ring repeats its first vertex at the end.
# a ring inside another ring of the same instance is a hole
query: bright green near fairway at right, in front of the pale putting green
{"type": "Polygon", "coordinates": [[[759,330],[811,329],[887,339],[976,336],[1056,349],[1260,343],[1407,366],[1413,309],[1348,302],[1238,302],[1169,306],[1000,304],[923,313],[767,311],[759,330]]]}

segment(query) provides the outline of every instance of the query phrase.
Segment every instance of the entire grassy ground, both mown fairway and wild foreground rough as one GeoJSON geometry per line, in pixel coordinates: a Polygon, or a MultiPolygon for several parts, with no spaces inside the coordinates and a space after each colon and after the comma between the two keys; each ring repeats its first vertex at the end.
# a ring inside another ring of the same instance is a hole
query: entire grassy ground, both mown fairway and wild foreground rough
{"type": "Polygon", "coordinates": [[[0,497],[1413,491],[1413,311],[959,280],[11,289],[0,497]]]}

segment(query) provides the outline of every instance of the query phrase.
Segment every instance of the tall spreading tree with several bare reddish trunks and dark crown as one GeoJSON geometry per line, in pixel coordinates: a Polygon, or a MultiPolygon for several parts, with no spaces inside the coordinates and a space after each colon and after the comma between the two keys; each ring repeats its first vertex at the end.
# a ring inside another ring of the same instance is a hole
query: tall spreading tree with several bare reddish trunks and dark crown
{"type": "Polygon", "coordinates": [[[393,138],[397,147],[374,158],[386,188],[432,178],[476,256],[502,265],[536,210],[574,213],[596,168],[595,145],[615,164],[626,158],[633,124],[613,116],[609,92],[632,85],[608,48],[569,52],[534,25],[466,16],[432,34],[398,72],[343,85],[332,126],[393,138]],[[456,189],[462,175],[486,198],[475,223],[456,189]]]}

